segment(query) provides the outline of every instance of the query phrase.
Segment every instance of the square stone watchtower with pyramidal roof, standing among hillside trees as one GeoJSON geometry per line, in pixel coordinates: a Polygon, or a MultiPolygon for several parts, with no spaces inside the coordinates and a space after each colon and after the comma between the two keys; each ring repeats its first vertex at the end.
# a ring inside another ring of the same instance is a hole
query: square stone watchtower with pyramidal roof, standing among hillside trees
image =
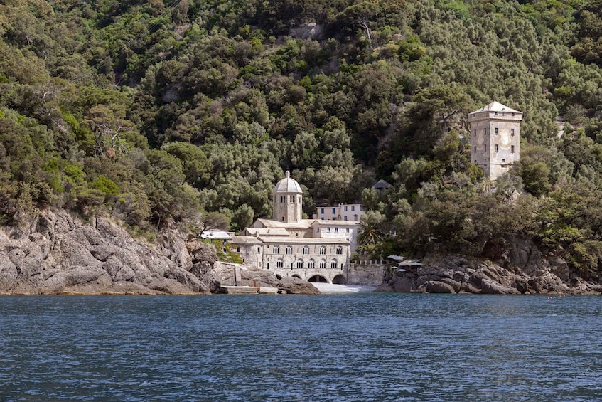
{"type": "Polygon", "coordinates": [[[468,114],[471,123],[471,162],[494,181],[520,159],[522,112],[499,102],[468,114]]]}

